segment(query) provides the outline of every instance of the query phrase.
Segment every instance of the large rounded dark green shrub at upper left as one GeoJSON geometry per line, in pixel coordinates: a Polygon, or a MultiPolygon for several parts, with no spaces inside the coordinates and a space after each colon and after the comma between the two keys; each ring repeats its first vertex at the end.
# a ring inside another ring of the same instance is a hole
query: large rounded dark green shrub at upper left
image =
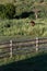
{"type": "Polygon", "coordinates": [[[13,19],[15,14],[15,7],[12,3],[0,4],[0,17],[13,19]]]}

